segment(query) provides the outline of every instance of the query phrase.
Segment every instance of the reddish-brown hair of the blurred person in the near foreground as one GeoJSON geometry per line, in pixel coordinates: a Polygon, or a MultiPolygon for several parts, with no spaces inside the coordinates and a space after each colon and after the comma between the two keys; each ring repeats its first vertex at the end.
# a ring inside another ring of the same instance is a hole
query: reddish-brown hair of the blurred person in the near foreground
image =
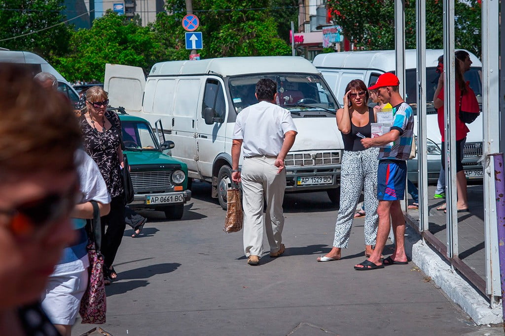
{"type": "Polygon", "coordinates": [[[0,63],[0,180],[75,169],[81,132],[72,106],[19,64],[0,63]]]}

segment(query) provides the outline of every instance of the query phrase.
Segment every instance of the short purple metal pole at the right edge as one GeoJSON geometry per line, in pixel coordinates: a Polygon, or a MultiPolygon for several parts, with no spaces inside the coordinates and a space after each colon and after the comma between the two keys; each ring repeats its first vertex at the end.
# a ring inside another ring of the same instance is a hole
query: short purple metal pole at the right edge
{"type": "Polygon", "coordinates": [[[498,228],[498,254],[500,260],[501,307],[503,310],[503,332],[505,332],[505,171],[503,170],[503,153],[492,155],[494,159],[494,186],[496,190],[495,199],[498,228]]]}

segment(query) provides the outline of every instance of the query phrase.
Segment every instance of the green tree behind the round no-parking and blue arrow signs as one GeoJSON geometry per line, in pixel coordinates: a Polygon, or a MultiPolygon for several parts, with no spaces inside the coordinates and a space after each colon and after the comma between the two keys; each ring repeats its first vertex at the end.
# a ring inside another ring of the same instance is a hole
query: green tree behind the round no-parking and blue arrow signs
{"type": "MultiPolygon", "coordinates": [[[[167,59],[187,59],[182,18],[183,0],[168,0],[172,15],[159,14],[152,28],[168,50],[167,59]]],[[[194,14],[204,36],[201,57],[288,55],[289,45],[279,37],[269,0],[194,0],[194,14]],[[256,9],[256,10],[254,10],[256,9]]]]}

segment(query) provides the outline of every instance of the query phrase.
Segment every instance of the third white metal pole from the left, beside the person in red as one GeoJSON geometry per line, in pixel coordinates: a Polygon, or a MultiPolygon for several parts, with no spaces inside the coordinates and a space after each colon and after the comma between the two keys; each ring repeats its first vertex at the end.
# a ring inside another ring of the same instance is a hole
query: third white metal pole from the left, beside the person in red
{"type": "Polygon", "coordinates": [[[445,195],[447,257],[458,256],[458,208],[456,190],[456,88],[454,63],[454,0],[443,2],[443,63],[445,119],[445,195]]]}

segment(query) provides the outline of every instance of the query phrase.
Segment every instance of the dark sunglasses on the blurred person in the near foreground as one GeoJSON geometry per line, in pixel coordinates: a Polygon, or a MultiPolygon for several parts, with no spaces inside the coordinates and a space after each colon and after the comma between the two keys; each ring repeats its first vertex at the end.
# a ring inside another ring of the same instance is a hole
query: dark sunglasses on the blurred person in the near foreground
{"type": "Polygon", "coordinates": [[[26,235],[69,215],[76,204],[78,193],[79,184],[76,183],[66,194],[48,194],[14,209],[0,210],[0,214],[11,218],[10,228],[13,233],[26,235]]]}

